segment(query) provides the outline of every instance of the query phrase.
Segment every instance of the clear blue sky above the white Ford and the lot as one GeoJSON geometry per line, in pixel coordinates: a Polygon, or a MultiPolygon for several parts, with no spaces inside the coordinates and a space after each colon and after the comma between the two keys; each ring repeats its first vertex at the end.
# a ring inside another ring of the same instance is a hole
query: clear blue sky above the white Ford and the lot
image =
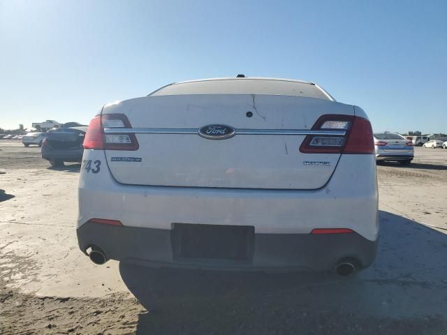
{"type": "Polygon", "coordinates": [[[447,133],[447,1],[0,0],[1,128],[237,73],[314,81],[374,131],[447,133]]]}

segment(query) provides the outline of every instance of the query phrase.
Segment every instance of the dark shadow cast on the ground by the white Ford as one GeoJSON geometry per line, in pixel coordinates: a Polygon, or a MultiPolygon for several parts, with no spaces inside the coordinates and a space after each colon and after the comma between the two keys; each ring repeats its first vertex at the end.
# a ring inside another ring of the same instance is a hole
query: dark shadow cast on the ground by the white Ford
{"type": "Polygon", "coordinates": [[[120,262],[148,310],[137,334],[446,334],[447,235],[386,211],[379,219],[376,262],[350,278],[120,262]]]}

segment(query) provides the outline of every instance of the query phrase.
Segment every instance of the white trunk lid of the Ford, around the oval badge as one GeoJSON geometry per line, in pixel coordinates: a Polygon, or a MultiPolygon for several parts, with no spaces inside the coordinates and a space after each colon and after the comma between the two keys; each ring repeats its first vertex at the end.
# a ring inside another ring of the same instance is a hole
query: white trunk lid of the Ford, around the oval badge
{"type": "Polygon", "coordinates": [[[107,105],[103,114],[125,114],[139,144],[135,151],[105,150],[119,183],[316,189],[328,182],[340,154],[303,154],[305,132],[323,114],[354,109],[315,98],[207,94],[135,98],[107,105]],[[233,127],[236,135],[198,135],[212,124],[233,127]]]}

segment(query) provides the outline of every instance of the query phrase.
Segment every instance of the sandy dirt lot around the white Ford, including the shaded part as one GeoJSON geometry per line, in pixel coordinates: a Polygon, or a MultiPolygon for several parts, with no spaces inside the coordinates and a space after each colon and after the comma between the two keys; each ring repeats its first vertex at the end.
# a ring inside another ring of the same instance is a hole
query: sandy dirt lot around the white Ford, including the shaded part
{"type": "Polygon", "coordinates": [[[0,140],[0,334],[447,334],[447,150],[378,167],[376,262],[348,279],[96,266],[80,165],[0,140]]]}

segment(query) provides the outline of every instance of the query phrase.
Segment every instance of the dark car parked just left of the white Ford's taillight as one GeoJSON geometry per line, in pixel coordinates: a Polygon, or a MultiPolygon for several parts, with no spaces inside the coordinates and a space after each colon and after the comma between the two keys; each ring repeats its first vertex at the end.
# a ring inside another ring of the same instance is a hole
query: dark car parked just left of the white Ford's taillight
{"type": "Polygon", "coordinates": [[[53,128],[42,143],[42,158],[52,166],[64,166],[64,162],[81,162],[87,126],[53,128]]]}

